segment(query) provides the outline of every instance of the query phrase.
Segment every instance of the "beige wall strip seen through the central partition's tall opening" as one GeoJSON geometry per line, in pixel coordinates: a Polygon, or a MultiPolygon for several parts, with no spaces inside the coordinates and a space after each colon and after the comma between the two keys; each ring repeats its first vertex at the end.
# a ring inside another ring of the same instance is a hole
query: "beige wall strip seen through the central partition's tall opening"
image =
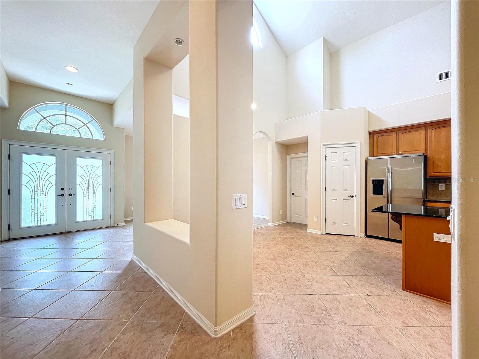
{"type": "MultiPolygon", "coordinates": [[[[174,76],[174,72],[173,72],[174,76]]],[[[174,82],[174,81],[173,81],[174,82]]],[[[189,82],[189,79],[188,79],[189,82]]],[[[190,223],[190,119],[172,119],[172,202],[173,219],[190,223]]]]}

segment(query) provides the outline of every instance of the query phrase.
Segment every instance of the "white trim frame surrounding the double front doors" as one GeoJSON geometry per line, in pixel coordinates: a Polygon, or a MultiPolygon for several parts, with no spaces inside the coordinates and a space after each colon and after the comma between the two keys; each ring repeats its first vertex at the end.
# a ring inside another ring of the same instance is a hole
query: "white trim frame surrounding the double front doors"
{"type": "MultiPolygon", "coordinates": [[[[103,130],[102,130],[103,131],[103,130]]],[[[17,140],[2,140],[2,155],[1,155],[1,190],[2,193],[8,192],[9,188],[9,177],[10,177],[10,168],[8,162],[8,155],[10,153],[10,145],[16,146],[32,146],[32,147],[42,147],[42,148],[57,148],[64,150],[73,150],[73,151],[86,151],[86,152],[100,152],[100,153],[109,153],[110,154],[110,227],[115,226],[114,224],[114,164],[115,164],[115,151],[104,149],[104,148],[90,148],[90,147],[79,147],[79,146],[63,146],[63,145],[52,145],[41,142],[27,142],[27,141],[17,141],[17,140]]],[[[2,196],[1,198],[1,210],[2,210],[2,223],[1,223],[1,235],[3,238],[9,239],[8,224],[10,222],[10,198],[9,196],[2,196]]],[[[124,224],[121,224],[124,225],[124,224]]]]}

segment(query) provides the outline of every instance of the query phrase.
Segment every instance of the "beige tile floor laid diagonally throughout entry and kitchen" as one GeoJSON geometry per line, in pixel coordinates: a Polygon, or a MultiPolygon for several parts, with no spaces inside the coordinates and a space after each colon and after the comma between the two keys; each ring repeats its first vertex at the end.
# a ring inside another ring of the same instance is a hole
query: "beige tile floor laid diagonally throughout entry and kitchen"
{"type": "Polygon", "coordinates": [[[0,356],[450,358],[450,306],[401,291],[401,245],[253,231],[257,314],[212,339],[130,258],[132,224],[3,242],[0,356]]]}

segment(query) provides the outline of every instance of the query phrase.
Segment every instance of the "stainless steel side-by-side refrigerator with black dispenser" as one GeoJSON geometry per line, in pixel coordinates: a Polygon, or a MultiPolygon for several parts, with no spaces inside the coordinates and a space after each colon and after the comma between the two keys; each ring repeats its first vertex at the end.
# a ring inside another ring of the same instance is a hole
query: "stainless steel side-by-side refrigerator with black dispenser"
{"type": "Polygon", "coordinates": [[[388,213],[371,212],[384,204],[423,205],[426,156],[424,154],[369,157],[367,159],[366,234],[402,240],[399,224],[388,213]]]}

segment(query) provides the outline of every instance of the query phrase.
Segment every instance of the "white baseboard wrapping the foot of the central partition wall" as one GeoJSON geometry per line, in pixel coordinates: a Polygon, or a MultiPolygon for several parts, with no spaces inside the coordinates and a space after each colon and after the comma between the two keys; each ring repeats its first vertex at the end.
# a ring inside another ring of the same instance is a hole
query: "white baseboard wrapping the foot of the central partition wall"
{"type": "Polygon", "coordinates": [[[144,269],[151,276],[151,278],[156,280],[160,287],[163,288],[163,290],[167,292],[170,297],[173,298],[173,300],[178,303],[178,305],[180,305],[183,310],[188,315],[190,315],[193,320],[198,323],[203,329],[205,329],[206,333],[208,333],[213,338],[219,338],[223,334],[228,333],[230,330],[245,322],[256,313],[256,311],[254,310],[254,306],[251,306],[250,308],[245,309],[233,318],[227,320],[222,325],[215,326],[208,319],[206,319],[203,314],[198,312],[193,305],[188,303],[178,292],[171,288],[171,286],[165,280],[163,280],[151,268],[149,268],[145,263],[143,263],[141,259],[139,259],[135,255],[133,255],[132,259],[137,262],[137,264],[142,269],[144,269]]]}

